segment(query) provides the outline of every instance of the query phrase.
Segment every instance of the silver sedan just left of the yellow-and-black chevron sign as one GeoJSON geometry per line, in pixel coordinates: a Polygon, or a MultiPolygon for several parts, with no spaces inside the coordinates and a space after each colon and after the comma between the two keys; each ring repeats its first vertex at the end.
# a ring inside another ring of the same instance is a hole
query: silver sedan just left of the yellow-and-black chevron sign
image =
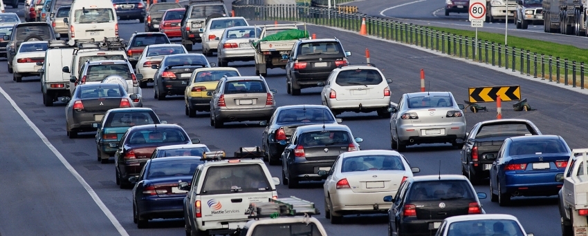
{"type": "Polygon", "coordinates": [[[392,149],[403,151],[409,145],[435,143],[462,146],[466,137],[462,109],[451,92],[405,93],[398,105],[390,108],[392,149]]]}

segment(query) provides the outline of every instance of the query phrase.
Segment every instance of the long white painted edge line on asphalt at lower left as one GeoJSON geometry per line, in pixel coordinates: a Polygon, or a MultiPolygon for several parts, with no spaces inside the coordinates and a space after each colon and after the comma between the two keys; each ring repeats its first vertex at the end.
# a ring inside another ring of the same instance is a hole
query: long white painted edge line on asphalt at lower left
{"type": "Polygon", "coordinates": [[[59,159],[59,161],[62,162],[62,164],[65,166],[65,168],[67,168],[67,170],[69,170],[69,173],[71,173],[71,175],[73,175],[73,177],[75,177],[75,179],[77,179],[77,181],[79,181],[80,184],[82,184],[82,186],[86,189],[86,192],[89,193],[90,197],[92,197],[92,199],[94,200],[96,205],[98,205],[98,207],[100,207],[100,210],[102,210],[104,215],[106,215],[108,217],[108,219],[110,219],[110,222],[114,225],[114,228],[116,228],[116,230],[118,230],[118,233],[120,233],[120,235],[122,235],[122,236],[128,236],[129,233],[127,233],[127,230],[125,230],[125,228],[122,227],[122,225],[118,222],[116,217],[114,217],[114,215],[110,212],[110,210],[107,208],[107,206],[104,205],[104,203],[102,202],[100,197],[98,197],[98,195],[93,190],[93,188],[86,182],[86,180],[84,180],[84,178],[82,178],[82,176],[79,173],[77,173],[77,171],[75,171],[73,166],[71,166],[71,164],[69,164],[69,162],[65,159],[65,157],[61,153],[59,153],[57,148],[55,148],[55,146],[53,146],[53,144],[50,143],[50,141],[47,139],[47,137],[45,137],[45,135],[43,135],[41,130],[39,130],[39,128],[37,128],[37,126],[35,126],[33,121],[28,119],[26,114],[24,114],[24,112],[21,110],[21,108],[19,108],[19,106],[17,105],[15,100],[12,100],[10,95],[8,95],[8,93],[6,93],[6,91],[4,91],[3,88],[1,88],[1,87],[0,87],[0,93],[2,93],[2,95],[4,95],[4,97],[6,97],[6,100],[8,100],[10,102],[10,104],[12,105],[12,108],[15,108],[15,110],[17,110],[17,112],[19,112],[19,115],[22,117],[22,119],[24,119],[24,121],[26,121],[26,124],[28,124],[28,126],[30,126],[30,128],[32,128],[33,130],[35,130],[35,132],[37,133],[39,138],[41,138],[41,140],[45,143],[45,145],[53,152],[53,154],[55,154],[55,156],[57,156],[57,159],[59,159]]]}

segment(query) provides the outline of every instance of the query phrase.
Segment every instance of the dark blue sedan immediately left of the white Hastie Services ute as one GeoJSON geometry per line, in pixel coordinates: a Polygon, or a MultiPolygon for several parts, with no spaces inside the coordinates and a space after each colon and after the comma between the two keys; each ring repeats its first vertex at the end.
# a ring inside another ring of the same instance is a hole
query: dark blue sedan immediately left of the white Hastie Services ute
{"type": "Polygon", "coordinates": [[[202,164],[199,157],[163,157],[150,159],[133,188],[133,222],[146,228],[149,219],[184,217],[183,200],[187,191],[179,182],[192,183],[192,175],[202,164]]]}

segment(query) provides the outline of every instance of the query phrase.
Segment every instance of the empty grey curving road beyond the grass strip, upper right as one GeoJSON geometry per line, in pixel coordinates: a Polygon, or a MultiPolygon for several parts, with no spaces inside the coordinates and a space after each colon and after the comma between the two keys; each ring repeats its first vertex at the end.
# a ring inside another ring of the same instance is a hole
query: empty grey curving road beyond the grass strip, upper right
{"type": "MultiPolygon", "coordinates": [[[[396,21],[414,23],[420,26],[437,26],[454,28],[459,30],[472,30],[467,13],[450,13],[445,17],[445,0],[359,0],[345,3],[349,6],[358,6],[359,11],[373,17],[388,17],[396,21]]],[[[511,18],[512,22],[512,18],[511,18]]],[[[484,22],[482,32],[493,32],[504,35],[504,21],[497,23],[484,22]]],[[[508,24],[508,35],[551,41],[578,48],[588,48],[588,37],[572,35],[560,35],[543,32],[543,25],[529,25],[529,29],[517,29],[514,23],[508,24]]],[[[504,44],[504,40],[497,43],[504,44]]]]}

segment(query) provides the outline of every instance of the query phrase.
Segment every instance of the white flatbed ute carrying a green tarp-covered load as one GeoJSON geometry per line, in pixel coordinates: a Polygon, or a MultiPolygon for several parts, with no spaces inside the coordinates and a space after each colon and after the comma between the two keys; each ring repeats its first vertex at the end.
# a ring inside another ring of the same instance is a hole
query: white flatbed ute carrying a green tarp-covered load
{"type": "Polygon", "coordinates": [[[255,75],[266,76],[268,68],[286,68],[288,57],[284,57],[284,55],[290,55],[296,41],[308,37],[308,33],[304,31],[302,35],[294,34],[291,35],[292,37],[282,37],[284,40],[270,39],[266,41],[265,39],[286,30],[298,30],[298,26],[300,25],[295,23],[261,26],[261,35],[258,37],[261,40],[253,43],[255,47],[255,75]]]}

